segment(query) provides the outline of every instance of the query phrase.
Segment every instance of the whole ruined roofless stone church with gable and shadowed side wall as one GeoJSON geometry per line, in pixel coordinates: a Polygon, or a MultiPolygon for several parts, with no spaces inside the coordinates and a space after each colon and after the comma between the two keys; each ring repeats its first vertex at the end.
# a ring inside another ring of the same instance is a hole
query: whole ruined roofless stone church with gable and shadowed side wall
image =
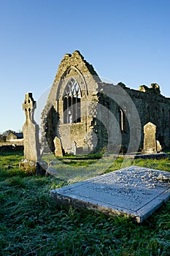
{"type": "Polygon", "coordinates": [[[170,99],[160,87],[129,89],[104,83],[79,51],[63,56],[42,111],[42,145],[63,153],[142,151],[144,125],[155,124],[156,139],[170,148],[170,99]]]}

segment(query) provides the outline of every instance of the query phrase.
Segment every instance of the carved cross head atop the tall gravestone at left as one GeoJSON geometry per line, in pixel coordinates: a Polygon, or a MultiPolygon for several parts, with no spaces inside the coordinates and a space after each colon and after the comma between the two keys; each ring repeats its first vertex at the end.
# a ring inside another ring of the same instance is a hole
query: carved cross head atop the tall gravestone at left
{"type": "Polygon", "coordinates": [[[23,102],[23,110],[26,113],[26,121],[28,120],[34,121],[33,113],[35,108],[36,108],[36,102],[32,97],[32,93],[28,92],[28,94],[26,94],[26,99],[23,102]]]}

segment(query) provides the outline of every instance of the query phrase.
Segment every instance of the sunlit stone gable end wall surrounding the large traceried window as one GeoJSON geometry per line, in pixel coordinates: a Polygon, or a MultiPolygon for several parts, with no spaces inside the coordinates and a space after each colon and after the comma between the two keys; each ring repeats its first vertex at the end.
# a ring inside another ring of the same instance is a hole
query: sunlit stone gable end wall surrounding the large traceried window
{"type": "Polygon", "coordinates": [[[100,79],[93,67],[84,61],[78,51],[72,56],[66,54],[58,67],[45,110],[42,112],[42,146],[45,150],[54,151],[53,139],[61,139],[63,150],[69,153],[72,143],[77,145],[77,151],[88,143],[89,150],[94,148],[93,118],[98,102],[97,91],[100,79]],[[70,78],[74,78],[81,90],[81,122],[64,124],[63,122],[63,92],[70,78]],[[88,86],[90,85],[90,86],[88,86]],[[93,93],[92,93],[93,92],[93,93]],[[48,149],[47,149],[48,148],[48,149]]]}

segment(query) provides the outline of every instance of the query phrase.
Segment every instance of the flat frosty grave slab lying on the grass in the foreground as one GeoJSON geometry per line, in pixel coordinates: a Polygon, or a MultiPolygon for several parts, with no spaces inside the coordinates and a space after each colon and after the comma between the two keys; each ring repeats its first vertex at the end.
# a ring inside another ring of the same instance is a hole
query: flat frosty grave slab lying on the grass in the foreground
{"type": "Polygon", "coordinates": [[[131,166],[96,178],[54,189],[50,196],[58,203],[125,214],[142,222],[170,199],[170,173],[131,166]]]}

